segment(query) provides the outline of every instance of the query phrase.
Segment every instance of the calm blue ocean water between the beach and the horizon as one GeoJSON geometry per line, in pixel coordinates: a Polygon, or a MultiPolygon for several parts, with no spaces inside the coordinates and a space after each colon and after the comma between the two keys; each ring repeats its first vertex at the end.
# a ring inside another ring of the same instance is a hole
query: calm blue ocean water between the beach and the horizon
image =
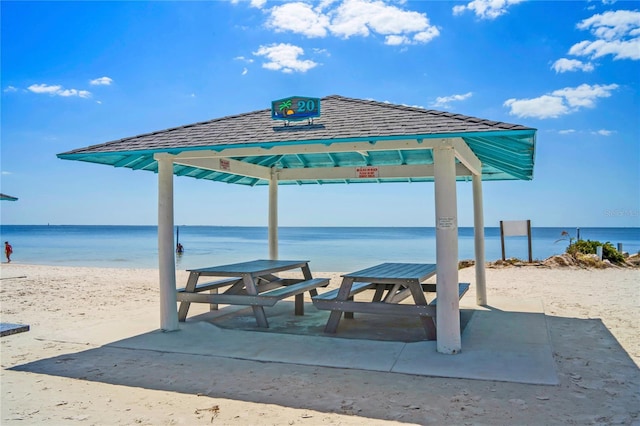
{"type": "MultiPolygon", "coordinates": [[[[533,228],[534,259],[564,253],[577,229],[533,228]]],[[[640,228],[581,228],[582,239],[622,244],[640,252],[640,228]]],[[[192,269],[252,259],[267,259],[266,227],[180,226],[176,237],[185,251],[178,269],[192,269]]],[[[380,262],[436,261],[435,228],[281,227],[279,258],[311,261],[313,271],[353,271],[380,262]]],[[[13,246],[12,261],[45,265],[157,268],[155,226],[2,225],[0,241],[13,246]]],[[[460,259],[474,258],[473,228],[460,228],[460,259]]],[[[528,258],[526,237],[505,239],[507,257],[528,258]]],[[[502,257],[499,228],[485,228],[487,261],[502,257]]],[[[4,256],[4,253],[3,253],[4,256]]],[[[5,261],[3,257],[3,262],[5,261]]]]}

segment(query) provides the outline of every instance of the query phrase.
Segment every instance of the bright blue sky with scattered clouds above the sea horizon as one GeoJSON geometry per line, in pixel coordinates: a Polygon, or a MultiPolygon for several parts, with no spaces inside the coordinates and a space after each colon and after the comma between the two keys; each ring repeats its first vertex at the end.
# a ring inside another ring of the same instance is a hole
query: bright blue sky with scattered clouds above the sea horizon
{"type": "MultiPolygon", "coordinates": [[[[640,6],[624,1],[1,3],[3,224],[156,224],[151,172],[57,153],[342,95],[538,129],[485,225],[640,226],[640,6]]],[[[473,225],[471,184],[458,221],[473,225]]],[[[434,226],[433,184],[280,188],[282,226],[434,226]]],[[[267,188],[175,179],[175,221],[267,223],[267,188]]]]}

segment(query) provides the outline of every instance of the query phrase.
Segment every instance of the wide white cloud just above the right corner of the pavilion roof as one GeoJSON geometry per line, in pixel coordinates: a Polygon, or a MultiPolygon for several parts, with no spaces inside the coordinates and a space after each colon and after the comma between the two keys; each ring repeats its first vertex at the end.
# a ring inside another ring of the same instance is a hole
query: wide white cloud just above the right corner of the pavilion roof
{"type": "Polygon", "coordinates": [[[533,99],[508,99],[504,106],[510,108],[509,114],[518,117],[557,118],[581,108],[593,108],[598,98],[611,96],[611,92],[617,88],[617,84],[582,84],[578,87],[555,90],[533,99]]]}

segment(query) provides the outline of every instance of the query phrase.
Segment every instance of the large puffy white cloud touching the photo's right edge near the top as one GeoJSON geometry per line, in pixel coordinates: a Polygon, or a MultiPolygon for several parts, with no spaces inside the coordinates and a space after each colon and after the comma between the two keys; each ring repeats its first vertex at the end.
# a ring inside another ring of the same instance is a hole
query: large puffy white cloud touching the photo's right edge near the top
{"type": "Polygon", "coordinates": [[[582,20],[578,29],[589,30],[595,40],[583,40],[569,54],[592,59],[612,55],[613,59],[640,59],[640,12],[609,11],[582,20]]]}

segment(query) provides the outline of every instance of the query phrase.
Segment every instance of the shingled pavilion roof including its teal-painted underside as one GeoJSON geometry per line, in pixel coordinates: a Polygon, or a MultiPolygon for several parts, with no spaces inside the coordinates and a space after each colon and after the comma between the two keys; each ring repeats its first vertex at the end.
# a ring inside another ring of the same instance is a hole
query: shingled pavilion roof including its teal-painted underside
{"type": "MultiPolygon", "coordinates": [[[[154,154],[184,155],[195,151],[211,152],[217,157],[229,152],[232,160],[284,169],[419,165],[432,164],[432,146],[425,144],[424,149],[412,146],[405,151],[398,149],[397,142],[461,138],[482,162],[483,179],[527,180],[533,177],[535,132],[518,124],[333,95],[321,99],[321,116],[313,122],[276,121],[271,117],[271,110],[264,109],[92,145],[58,154],[58,157],[154,172],[157,171],[154,154]],[[385,150],[384,145],[390,142],[395,144],[385,150]],[[369,152],[366,146],[361,149],[359,143],[377,149],[369,152]],[[356,144],[357,148],[348,152],[344,144],[356,144]],[[326,148],[318,152],[310,150],[312,145],[326,148]],[[290,149],[280,154],[268,152],[283,146],[290,149]],[[299,147],[299,151],[295,147],[299,147]],[[334,152],[332,147],[336,148],[334,152]]],[[[174,165],[174,172],[230,183],[267,183],[255,177],[211,173],[209,169],[180,164],[174,165]]],[[[433,179],[429,176],[376,179],[379,182],[398,180],[433,179]]],[[[296,179],[282,183],[329,181],[296,179]]]]}

